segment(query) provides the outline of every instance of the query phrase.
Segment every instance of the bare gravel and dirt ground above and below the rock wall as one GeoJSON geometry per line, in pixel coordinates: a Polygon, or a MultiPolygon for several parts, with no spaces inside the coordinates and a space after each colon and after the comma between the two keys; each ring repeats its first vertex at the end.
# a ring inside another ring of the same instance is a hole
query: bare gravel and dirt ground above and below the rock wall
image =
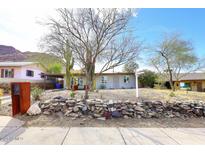
{"type": "MultiPolygon", "coordinates": [[[[205,93],[177,91],[175,96],[170,96],[169,90],[140,89],[139,94],[144,100],[161,100],[161,101],[205,101],[205,93]]],[[[77,98],[82,98],[84,91],[76,91],[77,98]]],[[[56,96],[70,97],[70,91],[47,91],[42,96],[42,101],[51,99],[56,96]]],[[[112,100],[135,100],[135,90],[100,90],[91,92],[90,98],[112,99],[112,100]]],[[[0,115],[11,115],[11,106],[8,104],[0,105],[0,115]]],[[[161,119],[110,119],[97,120],[89,117],[72,119],[65,117],[62,113],[56,115],[39,115],[27,116],[18,115],[16,118],[25,121],[25,126],[62,126],[62,127],[205,127],[204,118],[161,118],[161,119]]]]}

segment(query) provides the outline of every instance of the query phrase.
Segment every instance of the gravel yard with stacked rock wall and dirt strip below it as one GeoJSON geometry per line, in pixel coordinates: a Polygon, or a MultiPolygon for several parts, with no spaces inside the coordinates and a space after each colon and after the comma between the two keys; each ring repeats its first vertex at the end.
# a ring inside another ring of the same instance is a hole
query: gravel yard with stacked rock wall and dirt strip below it
{"type": "MultiPolygon", "coordinates": [[[[28,111],[16,118],[33,127],[204,127],[205,94],[200,92],[141,88],[136,99],[135,89],[84,91],[47,90],[28,111]],[[30,115],[29,115],[30,114],[30,115]],[[36,114],[36,115],[34,115],[36,114]]],[[[2,104],[1,115],[11,115],[11,105],[2,104]]]]}

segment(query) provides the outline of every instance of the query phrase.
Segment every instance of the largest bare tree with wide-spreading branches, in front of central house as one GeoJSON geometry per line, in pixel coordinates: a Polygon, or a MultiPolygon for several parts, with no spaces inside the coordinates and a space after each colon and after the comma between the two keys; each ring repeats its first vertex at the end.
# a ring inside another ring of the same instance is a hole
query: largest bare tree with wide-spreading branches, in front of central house
{"type": "MultiPolygon", "coordinates": [[[[57,9],[57,25],[69,36],[73,55],[86,75],[86,85],[93,87],[96,62],[103,63],[100,72],[125,64],[138,56],[140,43],[131,37],[128,21],[132,9],[57,9]]],[[[85,97],[88,97],[86,91],[85,97]]]]}

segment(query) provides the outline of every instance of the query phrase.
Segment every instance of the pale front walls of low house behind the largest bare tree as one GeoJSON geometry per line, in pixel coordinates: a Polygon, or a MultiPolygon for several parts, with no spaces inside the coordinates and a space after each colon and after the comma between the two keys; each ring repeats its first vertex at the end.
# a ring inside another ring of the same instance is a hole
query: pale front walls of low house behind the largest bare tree
{"type": "MultiPolygon", "coordinates": [[[[84,89],[86,78],[83,73],[73,73],[71,85],[84,89]]],[[[64,83],[65,84],[65,83],[64,83]]],[[[96,89],[132,89],[136,87],[134,73],[96,73],[94,86],[96,89]]]]}

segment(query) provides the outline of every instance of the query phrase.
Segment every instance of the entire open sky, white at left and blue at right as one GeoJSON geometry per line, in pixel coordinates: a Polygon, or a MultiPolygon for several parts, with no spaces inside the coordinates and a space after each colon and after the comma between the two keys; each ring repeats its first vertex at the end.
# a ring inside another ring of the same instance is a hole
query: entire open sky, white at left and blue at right
{"type": "MultiPolygon", "coordinates": [[[[36,21],[54,14],[52,8],[0,9],[0,44],[20,51],[39,51],[38,42],[46,30],[36,21]]],[[[136,28],[135,35],[144,45],[152,47],[163,33],[180,32],[193,42],[197,56],[205,58],[205,9],[140,9],[130,25],[136,28]]],[[[142,68],[146,68],[145,62],[146,59],[139,62],[142,68]]]]}

